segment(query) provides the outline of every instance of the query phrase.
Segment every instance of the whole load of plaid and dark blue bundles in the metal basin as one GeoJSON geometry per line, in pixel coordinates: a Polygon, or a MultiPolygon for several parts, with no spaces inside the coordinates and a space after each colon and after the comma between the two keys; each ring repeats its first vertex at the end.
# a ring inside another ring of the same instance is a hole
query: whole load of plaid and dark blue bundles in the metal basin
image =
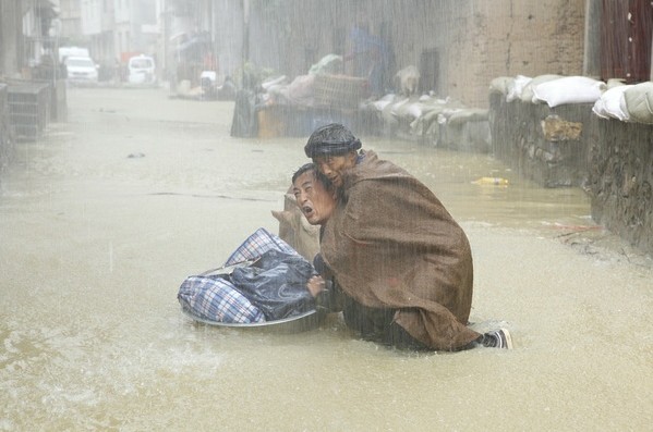
{"type": "Polygon", "coordinates": [[[186,277],[177,298],[190,314],[222,323],[277,321],[315,310],[306,289],[313,266],[258,229],[218,269],[186,277]]]}

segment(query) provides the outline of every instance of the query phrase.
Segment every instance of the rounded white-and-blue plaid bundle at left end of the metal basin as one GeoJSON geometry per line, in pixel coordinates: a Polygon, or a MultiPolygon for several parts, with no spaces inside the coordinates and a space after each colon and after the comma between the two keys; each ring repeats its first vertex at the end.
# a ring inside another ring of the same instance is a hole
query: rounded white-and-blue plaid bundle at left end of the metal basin
{"type": "Polygon", "coordinates": [[[231,282],[220,276],[189,276],[177,294],[184,309],[217,322],[264,322],[265,316],[231,282]]]}

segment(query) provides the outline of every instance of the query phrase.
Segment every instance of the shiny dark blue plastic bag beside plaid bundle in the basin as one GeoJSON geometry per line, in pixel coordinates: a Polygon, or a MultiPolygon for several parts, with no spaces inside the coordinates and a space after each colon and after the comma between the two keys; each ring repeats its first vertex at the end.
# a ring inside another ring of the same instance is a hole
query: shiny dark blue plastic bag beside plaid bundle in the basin
{"type": "Polygon", "coordinates": [[[270,249],[253,264],[234,269],[229,279],[265,314],[266,321],[275,321],[315,309],[306,288],[315,274],[303,257],[270,249]]]}

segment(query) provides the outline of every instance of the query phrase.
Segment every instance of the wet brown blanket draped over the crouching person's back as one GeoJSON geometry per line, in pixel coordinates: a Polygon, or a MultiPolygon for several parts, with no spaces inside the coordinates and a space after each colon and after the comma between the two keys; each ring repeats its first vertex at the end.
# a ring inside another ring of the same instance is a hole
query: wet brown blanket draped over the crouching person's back
{"type": "Polygon", "coordinates": [[[373,151],[343,175],[343,199],[321,250],[342,289],[434,349],[480,336],[465,326],[473,285],[462,229],[421,182],[373,151]]]}

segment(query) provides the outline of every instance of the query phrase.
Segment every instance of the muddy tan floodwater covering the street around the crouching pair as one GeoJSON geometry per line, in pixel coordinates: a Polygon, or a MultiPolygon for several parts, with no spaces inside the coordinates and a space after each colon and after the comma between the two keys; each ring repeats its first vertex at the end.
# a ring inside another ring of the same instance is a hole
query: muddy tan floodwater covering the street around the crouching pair
{"type": "Polygon", "coordinates": [[[277,231],[305,138],[229,136],[232,103],[72,88],[0,181],[0,430],[651,430],[651,260],[491,157],[364,138],[431,186],[475,260],[471,320],[516,349],[407,354],[182,316],[183,279],[277,231]],[[508,178],[508,187],[475,185],[508,178]]]}

